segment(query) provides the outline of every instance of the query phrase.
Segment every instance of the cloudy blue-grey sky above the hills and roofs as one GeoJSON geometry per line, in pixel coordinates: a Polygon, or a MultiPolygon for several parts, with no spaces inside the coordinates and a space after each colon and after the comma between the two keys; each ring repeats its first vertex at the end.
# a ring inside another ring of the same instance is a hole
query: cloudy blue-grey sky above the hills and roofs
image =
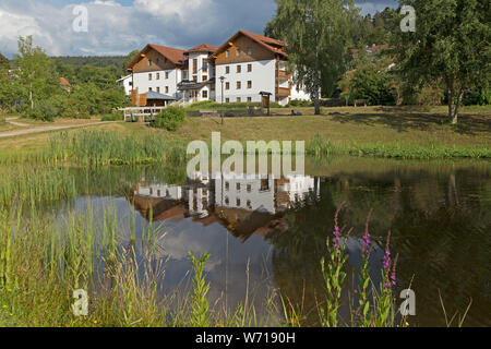
{"type": "MultiPolygon", "coordinates": [[[[361,14],[397,7],[356,3],[361,14]]],[[[28,35],[49,56],[125,56],[148,43],[219,46],[239,29],[262,34],[275,10],[274,0],[0,0],[0,53],[12,58],[19,36],[28,35]],[[86,21],[75,7],[86,9],[86,21]]]]}

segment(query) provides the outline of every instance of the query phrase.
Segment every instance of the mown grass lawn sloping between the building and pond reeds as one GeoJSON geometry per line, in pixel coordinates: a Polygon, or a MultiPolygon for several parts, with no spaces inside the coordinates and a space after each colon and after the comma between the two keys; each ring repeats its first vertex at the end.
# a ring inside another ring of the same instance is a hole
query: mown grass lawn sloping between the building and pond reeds
{"type": "MultiPolygon", "coordinates": [[[[457,125],[446,121],[446,108],[430,110],[417,107],[342,107],[322,108],[321,116],[313,116],[313,108],[295,108],[301,117],[272,116],[255,118],[188,118],[177,132],[155,130],[139,123],[116,123],[92,129],[118,131],[123,134],[161,134],[180,141],[209,141],[212,132],[221,132],[223,140],[238,141],[311,141],[322,135],[334,145],[349,146],[491,146],[491,108],[467,107],[463,109],[457,125]]],[[[273,115],[288,115],[290,109],[273,109],[273,115]]],[[[20,119],[23,122],[24,119],[20,119]]],[[[99,121],[57,120],[55,124],[71,124],[99,121]]],[[[36,127],[37,127],[37,122],[36,127]]],[[[41,123],[53,124],[53,123],[41,123]]],[[[0,125],[0,132],[2,127],[0,125]]],[[[59,132],[59,131],[58,131],[59,132]]],[[[73,130],[70,132],[79,132],[73,130]]],[[[36,148],[46,144],[53,132],[0,139],[2,148],[36,148]]]]}

